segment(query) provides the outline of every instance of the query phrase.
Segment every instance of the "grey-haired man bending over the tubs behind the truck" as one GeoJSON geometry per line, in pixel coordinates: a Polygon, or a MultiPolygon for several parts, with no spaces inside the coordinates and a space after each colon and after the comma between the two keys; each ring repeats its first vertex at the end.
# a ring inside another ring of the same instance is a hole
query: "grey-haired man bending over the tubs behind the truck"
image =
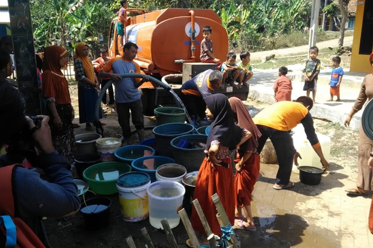
{"type": "Polygon", "coordinates": [[[213,91],[220,87],[223,80],[223,74],[218,70],[206,70],[197,74],[194,78],[186,81],[181,86],[180,98],[186,107],[190,116],[197,116],[205,119],[206,104],[203,97],[210,96],[213,91]]]}

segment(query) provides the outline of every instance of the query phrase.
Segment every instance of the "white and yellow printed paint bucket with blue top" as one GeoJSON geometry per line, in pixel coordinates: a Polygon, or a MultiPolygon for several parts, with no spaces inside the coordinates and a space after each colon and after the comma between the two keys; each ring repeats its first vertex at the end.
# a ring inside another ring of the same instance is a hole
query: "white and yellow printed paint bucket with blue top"
{"type": "Polygon", "coordinates": [[[123,220],[139,222],[148,218],[149,204],[146,189],[150,183],[149,175],[142,172],[128,172],[119,176],[116,187],[123,220]]]}

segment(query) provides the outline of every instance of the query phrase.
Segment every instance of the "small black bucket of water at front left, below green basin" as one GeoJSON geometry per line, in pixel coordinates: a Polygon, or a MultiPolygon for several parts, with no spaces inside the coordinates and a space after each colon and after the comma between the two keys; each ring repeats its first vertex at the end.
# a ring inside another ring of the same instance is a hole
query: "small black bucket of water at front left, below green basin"
{"type": "Polygon", "coordinates": [[[111,205],[112,200],[107,197],[94,197],[83,202],[79,212],[83,216],[86,228],[98,230],[109,225],[111,205]]]}

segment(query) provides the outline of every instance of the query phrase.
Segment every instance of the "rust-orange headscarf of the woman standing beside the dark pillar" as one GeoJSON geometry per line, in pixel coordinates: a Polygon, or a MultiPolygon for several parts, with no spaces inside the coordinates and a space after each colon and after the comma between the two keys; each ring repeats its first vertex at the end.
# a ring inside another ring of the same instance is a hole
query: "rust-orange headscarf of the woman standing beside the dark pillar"
{"type": "Polygon", "coordinates": [[[44,49],[43,71],[50,70],[53,74],[62,75],[60,59],[65,57],[68,51],[62,46],[47,46],[44,49]]]}

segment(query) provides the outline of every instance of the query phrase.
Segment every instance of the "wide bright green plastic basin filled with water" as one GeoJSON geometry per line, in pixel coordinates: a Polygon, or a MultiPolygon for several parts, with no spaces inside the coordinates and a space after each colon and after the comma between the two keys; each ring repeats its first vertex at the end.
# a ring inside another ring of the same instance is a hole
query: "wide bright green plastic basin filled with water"
{"type": "Polygon", "coordinates": [[[108,195],[118,192],[116,181],[119,175],[130,172],[131,165],[121,162],[104,162],[92,165],[83,171],[83,178],[96,194],[108,195]]]}

